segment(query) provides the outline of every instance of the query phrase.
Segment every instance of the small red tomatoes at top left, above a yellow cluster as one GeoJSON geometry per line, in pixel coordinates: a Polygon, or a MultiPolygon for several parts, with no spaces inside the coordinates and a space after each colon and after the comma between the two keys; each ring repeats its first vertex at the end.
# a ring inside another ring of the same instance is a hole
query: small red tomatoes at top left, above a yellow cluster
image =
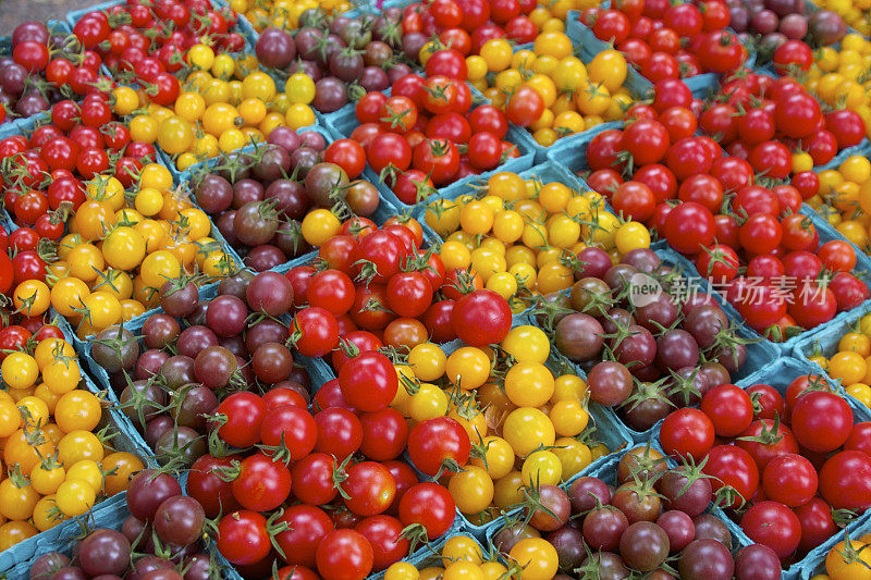
{"type": "Polygon", "coordinates": [[[76,22],[73,34],[112,71],[155,86],[151,100],[169,106],[181,90],[172,73],[182,69],[187,49],[203,37],[224,52],[245,47],[245,38],[233,29],[235,23],[232,11],[214,9],[208,0],[128,0],[107,11],[88,12],[76,22]],[[149,30],[157,34],[146,34],[149,30]]]}

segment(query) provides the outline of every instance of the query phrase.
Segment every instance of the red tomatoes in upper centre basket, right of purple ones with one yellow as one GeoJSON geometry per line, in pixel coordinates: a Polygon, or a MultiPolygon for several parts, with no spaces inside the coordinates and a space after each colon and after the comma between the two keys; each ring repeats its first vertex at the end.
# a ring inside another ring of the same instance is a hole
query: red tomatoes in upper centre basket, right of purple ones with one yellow
{"type": "MultiPolygon", "coordinates": [[[[351,138],[405,203],[416,203],[433,187],[493,170],[519,156],[505,140],[510,115],[491,104],[473,110],[465,78],[463,54],[443,49],[427,61],[426,78],[407,74],[393,83],[390,97],[369,92],[356,104],[360,125],[351,138]]],[[[541,97],[532,89],[518,92],[532,94],[512,101],[526,99],[531,110],[528,116],[537,120],[544,107],[541,97]]]]}

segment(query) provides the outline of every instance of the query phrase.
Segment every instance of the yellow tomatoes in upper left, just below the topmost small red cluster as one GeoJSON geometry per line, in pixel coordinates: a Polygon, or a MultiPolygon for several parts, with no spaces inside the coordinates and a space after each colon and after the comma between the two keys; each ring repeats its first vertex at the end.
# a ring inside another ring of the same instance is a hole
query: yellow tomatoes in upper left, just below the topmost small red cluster
{"type": "Polygon", "coordinates": [[[192,70],[174,106],[151,103],[130,127],[134,140],[157,143],[173,156],[179,170],[262,143],[278,126],[300,128],[317,121],[309,107],[315,82],[304,73],[291,75],[279,91],[254,54],[234,60],[196,45],[186,59],[192,70]]]}

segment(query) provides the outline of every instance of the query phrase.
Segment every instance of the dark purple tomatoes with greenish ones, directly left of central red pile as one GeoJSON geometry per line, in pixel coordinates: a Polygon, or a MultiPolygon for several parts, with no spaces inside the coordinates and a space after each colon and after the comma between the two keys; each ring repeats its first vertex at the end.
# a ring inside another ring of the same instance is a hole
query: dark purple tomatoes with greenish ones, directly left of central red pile
{"type": "Polygon", "coordinates": [[[305,391],[310,382],[305,369],[294,367],[287,325],[278,320],[293,300],[283,275],[243,271],[223,279],[216,292],[200,301],[191,280],[167,282],[159,293],[162,311],[137,329],[142,347],[121,326],[94,338],[90,356],[109,373],[121,410],[161,462],[191,465],[206,453],[207,417],[229,392],[285,383],[305,391]]]}

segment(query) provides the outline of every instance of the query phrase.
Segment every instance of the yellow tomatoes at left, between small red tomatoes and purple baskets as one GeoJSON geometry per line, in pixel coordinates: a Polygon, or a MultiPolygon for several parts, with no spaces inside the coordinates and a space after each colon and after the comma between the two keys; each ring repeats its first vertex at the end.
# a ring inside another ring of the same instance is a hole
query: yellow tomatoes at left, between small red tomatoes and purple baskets
{"type": "Polygon", "coordinates": [[[226,275],[235,264],[209,237],[206,213],[172,189],[167,168],[143,168],[132,202],[114,177],[97,176],[57,245],[48,283],[29,280],[14,291],[27,316],[49,306],[77,326],[81,337],[154,308],[167,280],[187,272],[226,275]]]}

